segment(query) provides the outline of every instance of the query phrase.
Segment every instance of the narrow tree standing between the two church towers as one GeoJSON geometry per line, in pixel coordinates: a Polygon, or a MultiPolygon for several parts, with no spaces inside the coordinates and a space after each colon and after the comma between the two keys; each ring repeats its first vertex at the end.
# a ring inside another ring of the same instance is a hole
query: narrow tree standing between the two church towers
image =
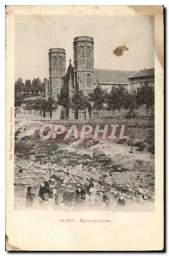
{"type": "Polygon", "coordinates": [[[70,95],[69,89],[65,86],[61,88],[60,94],[58,93],[58,104],[63,106],[66,112],[66,118],[69,118],[70,95]]]}

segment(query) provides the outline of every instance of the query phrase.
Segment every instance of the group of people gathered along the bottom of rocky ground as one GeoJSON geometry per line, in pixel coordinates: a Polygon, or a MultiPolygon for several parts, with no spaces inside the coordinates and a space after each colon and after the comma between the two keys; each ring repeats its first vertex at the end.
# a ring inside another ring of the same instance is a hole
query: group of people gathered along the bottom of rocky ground
{"type": "MultiPolygon", "coordinates": [[[[64,203],[66,206],[72,206],[72,205],[80,205],[88,203],[92,206],[98,206],[100,204],[104,204],[105,207],[110,206],[109,198],[104,194],[102,196],[102,199],[96,194],[97,189],[94,187],[93,182],[91,181],[89,185],[86,185],[84,187],[79,186],[77,189],[70,190],[70,191],[64,191],[63,194],[63,200],[59,200],[59,195],[57,194],[57,190],[52,186],[52,182],[49,180],[44,181],[43,184],[41,184],[39,189],[38,196],[41,198],[41,202],[43,201],[49,201],[52,199],[54,201],[55,205],[60,205],[60,203],[64,203]]],[[[31,186],[27,187],[26,191],[26,206],[32,206],[35,198],[35,193],[31,186]]],[[[125,200],[123,198],[119,198],[117,205],[125,205],[125,200]]]]}

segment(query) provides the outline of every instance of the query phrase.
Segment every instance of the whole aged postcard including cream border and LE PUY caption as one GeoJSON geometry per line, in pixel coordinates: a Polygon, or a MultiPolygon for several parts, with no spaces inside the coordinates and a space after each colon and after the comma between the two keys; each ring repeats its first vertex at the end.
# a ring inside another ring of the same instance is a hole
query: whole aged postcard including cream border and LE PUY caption
{"type": "Polygon", "coordinates": [[[162,17],[6,9],[7,250],[162,248],[162,17]]]}

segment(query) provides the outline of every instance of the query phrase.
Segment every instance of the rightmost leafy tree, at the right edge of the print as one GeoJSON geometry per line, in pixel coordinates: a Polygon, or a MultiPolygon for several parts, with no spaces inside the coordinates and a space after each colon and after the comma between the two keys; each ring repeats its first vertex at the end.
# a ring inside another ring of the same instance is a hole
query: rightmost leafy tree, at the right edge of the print
{"type": "Polygon", "coordinates": [[[137,94],[137,104],[138,105],[146,105],[146,112],[148,118],[148,109],[150,106],[154,105],[154,85],[144,83],[143,86],[140,87],[140,90],[137,94]]]}

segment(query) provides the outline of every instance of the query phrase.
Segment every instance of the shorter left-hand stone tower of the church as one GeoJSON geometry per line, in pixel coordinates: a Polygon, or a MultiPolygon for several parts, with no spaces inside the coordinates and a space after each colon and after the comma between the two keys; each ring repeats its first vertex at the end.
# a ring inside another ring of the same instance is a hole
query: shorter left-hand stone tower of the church
{"type": "Polygon", "coordinates": [[[46,99],[49,96],[57,99],[60,93],[63,78],[66,74],[66,52],[65,49],[49,49],[49,81],[46,84],[46,99]]]}

